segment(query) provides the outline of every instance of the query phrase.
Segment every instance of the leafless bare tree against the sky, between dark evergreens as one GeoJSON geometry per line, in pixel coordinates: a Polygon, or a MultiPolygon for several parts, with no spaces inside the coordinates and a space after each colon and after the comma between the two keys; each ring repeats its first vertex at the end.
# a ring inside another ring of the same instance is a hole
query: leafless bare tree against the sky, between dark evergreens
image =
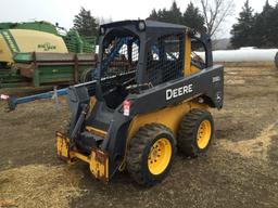
{"type": "Polygon", "coordinates": [[[215,36],[220,25],[233,14],[233,0],[199,0],[207,34],[215,36]]]}

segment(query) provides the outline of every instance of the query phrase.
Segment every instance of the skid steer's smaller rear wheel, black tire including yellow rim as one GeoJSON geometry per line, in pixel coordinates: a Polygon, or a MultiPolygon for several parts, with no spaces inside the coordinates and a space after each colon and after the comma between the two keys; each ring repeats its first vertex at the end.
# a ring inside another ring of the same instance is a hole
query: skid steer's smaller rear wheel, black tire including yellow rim
{"type": "Polygon", "coordinates": [[[185,115],[178,131],[178,150],[186,156],[204,154],[214,136],[214,121],[210,112],[191,109],[185,115]]]}

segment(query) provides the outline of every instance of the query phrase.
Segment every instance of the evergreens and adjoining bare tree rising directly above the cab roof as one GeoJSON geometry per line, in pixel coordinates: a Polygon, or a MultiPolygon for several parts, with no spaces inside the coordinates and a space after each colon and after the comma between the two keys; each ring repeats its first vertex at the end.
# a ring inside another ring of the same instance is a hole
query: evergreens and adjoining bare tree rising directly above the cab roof
{"type": "Polygon", "coordinates": [[[173,1],[169,9],[153,9],[148,20],[186,25],[215,38],[235,8],[233,0],[197,0],[195,4],[190,1],[185,12],[181,12],[176,1],[173,1]]]}

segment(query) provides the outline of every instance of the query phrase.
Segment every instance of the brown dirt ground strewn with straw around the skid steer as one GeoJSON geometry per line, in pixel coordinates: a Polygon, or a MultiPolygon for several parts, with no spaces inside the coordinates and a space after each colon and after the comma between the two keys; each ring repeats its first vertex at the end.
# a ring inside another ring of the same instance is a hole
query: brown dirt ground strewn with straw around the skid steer
{"type": "MultiPolygon", "coordinates": [[[[0,103],[1,104],[1,103],[0,103]]],[[[56,158],[65,101],[0,110],[0,207],[278,207],[278,70],[225,68],[225,104],[204,157],[178,155],[170,174],[142,188],[128,173],[109,185],[85,164],[56,158]]]]}

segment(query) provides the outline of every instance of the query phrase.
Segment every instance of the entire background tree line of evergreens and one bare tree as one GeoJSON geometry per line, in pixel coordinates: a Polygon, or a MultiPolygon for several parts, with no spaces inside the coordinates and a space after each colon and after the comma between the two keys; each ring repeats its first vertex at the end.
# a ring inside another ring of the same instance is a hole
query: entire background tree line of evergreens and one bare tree
{"type": "MultiPolygon", "coordinates": [[[[185,8],[185,11],[181,11],[176,1],[173,1],[168,9],[153,9],[147,20],[186,25],[197,30],[205,31],[215,38],[215,34],[220,31],[222,25],[227,17],[232,15],[233,1],[197,0],[195,3],[199,6],[190,2],[185,8]]],[[[232,25],[230,30],[231,48],[277,48],[277,16],[278,3],[271,6],[266,0],[263,11],[254,13],[249,0],[247,0],[242,11],[239,13],[237,23],[232,25]]],[[[73,29],[77,30],[81,36],[97,37],[100,22],[100,20],[91,15],[89,10],[81,8],[80,12],[75,15],[73,29]]]]}

